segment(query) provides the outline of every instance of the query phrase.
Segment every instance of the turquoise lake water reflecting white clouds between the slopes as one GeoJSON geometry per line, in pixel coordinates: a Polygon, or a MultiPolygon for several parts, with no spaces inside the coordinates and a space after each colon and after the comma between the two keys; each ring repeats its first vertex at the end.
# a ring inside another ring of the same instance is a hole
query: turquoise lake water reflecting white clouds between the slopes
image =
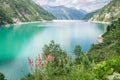
{"type": "Polygon", "coordinates": [[[27,74],[27,58],[42,53],[51,40],[60,43],[71,55],[75,45],[87,52],[96,38],[106,31],[106,24],[89,22],[41,22],[0,27],[0,72],[8,80],[27,74]]]}

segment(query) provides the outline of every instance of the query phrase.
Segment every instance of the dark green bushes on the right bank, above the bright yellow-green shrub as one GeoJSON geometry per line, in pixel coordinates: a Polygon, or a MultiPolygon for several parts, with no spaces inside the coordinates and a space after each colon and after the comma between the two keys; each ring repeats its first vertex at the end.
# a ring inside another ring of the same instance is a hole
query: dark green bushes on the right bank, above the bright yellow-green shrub
{"type": "Polygon", "coordinates": [[[88,56],[90,60],[101,62],[111,54],[116,53],[120,55],[120,19],[113,21],[108,28],[108,31],[103,35],[104,42],[93,46],[89,51],[88,56]]]}

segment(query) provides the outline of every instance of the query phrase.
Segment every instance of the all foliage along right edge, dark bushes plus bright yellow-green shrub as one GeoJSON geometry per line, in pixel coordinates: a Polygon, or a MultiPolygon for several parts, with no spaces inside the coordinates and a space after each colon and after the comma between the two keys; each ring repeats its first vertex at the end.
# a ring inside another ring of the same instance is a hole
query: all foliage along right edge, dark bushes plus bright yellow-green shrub
{"type": "Polygon", "coordinates": [[[100,62],[94,67],[94,73],[102,80],[114,71],[120,72],[120,19],[113,21],[107,30],[104,43],[94,45],[88,53],[91,61],[100,62]]]}

